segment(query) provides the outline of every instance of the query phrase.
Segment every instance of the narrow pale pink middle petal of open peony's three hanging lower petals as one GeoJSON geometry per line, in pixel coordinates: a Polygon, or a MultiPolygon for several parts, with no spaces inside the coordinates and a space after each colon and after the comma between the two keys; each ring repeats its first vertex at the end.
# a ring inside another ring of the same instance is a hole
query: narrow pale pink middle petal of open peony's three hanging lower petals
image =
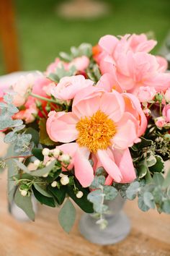
{"type": "Polygon", "coordinates": [[[115,182],[120,182],[122,179],[120,168],[118,168],[116,163],[109,158],[107,150],[97,150],[97,158],[99,158],[99,161],[102,163],[102,166],[107,171],[109,176],[111,176],[115,182]]]}

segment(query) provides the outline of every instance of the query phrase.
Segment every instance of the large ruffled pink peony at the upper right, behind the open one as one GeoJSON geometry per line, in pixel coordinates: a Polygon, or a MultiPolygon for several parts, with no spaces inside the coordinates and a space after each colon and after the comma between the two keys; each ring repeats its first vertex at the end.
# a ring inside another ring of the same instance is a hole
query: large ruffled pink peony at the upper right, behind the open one
{"type": "Polygon", "coordinates": [[[155,44],[143,34],[125,35],[120,40],[105,35],[99,40],[102,52],[98,63],[102,74],[116,73],[122,89],[129,93],[138,93],[140,86],[166,90],[170,85],[170,74],[164,73],[167,62],[148,54],[155,44]]]}

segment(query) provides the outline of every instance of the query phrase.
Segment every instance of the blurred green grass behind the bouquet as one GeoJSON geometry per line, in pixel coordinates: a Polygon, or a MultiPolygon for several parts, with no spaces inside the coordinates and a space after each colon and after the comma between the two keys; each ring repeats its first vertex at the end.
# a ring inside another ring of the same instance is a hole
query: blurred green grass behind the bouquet
{"type": "MultiPolygon", "coordinates": [[[[92,20],[64,20],[57,15],[58,0],[15,0],[19,51],[23,70],[45,67],[82,42],[96,44],[105,34],[148,33],[158,40],[155,52],[170,30],[169,0],[105,0],[110,13],[92,20]]],[[[3,68],[0,68],[3,73],[3,68]]]]}

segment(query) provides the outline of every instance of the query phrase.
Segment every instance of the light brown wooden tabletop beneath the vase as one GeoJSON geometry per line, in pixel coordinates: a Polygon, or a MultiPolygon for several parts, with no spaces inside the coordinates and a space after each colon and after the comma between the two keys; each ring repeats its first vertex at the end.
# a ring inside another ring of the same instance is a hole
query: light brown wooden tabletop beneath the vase
{"type": "Polygon", "coordinates": [[[109,246],[87,242],[78,230],[81,210],[71,234],[58,224],[58,209],[40,205],[35,223],[17,222],[6,202],[6,174],[0,175],[0,256],[170,256],[170,216],[155,210],[143,213],[127,202],[132,231],[124,241],[109,246]]]}

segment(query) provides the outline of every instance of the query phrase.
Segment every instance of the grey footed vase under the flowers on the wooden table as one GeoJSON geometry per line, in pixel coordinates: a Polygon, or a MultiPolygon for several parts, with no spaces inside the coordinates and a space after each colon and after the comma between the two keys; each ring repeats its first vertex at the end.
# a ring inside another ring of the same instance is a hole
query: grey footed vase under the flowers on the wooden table
{"type": "Polygon", "coordinates": [[[94,244],[115,244],[122,241],[130,232],[130,221],[125,213],[122,212],[125,200],[118,195],[115,200],[107,201],[105,204],[109,206],[112,212],[105,215],[108,221],[106,229],[100,229],[96,224],[96,219],[90,214],[85,213],[79,222],[79,230],[81,234],[94,244]]]}

